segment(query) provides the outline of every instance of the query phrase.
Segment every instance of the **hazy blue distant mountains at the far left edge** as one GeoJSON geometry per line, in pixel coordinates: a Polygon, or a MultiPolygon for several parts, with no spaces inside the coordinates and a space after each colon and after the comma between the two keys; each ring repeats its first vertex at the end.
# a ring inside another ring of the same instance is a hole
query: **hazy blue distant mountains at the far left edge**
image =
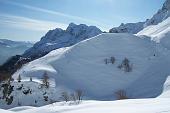
{"type": "Polygon", "coordinates": [[[8,58],[17,54],[23,54],[25,50],[31,48],[33,43],[18,42],[6,39],[0,39],[0,65],[8,58]]]}

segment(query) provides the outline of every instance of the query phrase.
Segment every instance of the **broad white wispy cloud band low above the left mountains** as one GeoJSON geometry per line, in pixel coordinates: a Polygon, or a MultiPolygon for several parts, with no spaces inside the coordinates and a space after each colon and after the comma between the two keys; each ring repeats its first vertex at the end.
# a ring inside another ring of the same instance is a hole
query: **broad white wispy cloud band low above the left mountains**
{"type": "Polygon", "coordinates": [[[14,27],[33,31],[48,31],[49,29],[54,29],[56,27],[63,29],[67,27],[67,25],[63,23],[42,21],[8,14],[0,15],[0,25],[5,27],[14,27]]]}

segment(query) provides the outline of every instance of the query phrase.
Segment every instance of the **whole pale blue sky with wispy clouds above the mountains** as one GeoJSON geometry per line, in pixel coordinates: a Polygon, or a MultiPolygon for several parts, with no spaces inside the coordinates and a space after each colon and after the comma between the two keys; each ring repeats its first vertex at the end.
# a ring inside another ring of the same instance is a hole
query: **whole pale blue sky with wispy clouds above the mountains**
{"type": "Polygon", "coordinates": [[[108,31],[127,22],[145,21],[165,0],[0,0],[0,38],[38,41],[50,29],[69,23],[108,31]]]}

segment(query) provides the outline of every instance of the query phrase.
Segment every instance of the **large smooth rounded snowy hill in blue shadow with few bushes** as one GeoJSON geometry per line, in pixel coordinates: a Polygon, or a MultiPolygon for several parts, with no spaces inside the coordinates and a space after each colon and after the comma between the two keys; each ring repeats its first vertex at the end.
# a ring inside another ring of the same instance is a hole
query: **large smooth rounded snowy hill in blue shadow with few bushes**
{"type": "Polygon", "coordinates": [[[129,98],[160,95],[169,67],[169,51],[161,45],[131,34],[106,33],[54,50],[13,77],[20,74],[38,78],[47,72],[56,80],[56,87],[81,89],[87,99],[113,100],[118,90],[125,90],[129,98]],[[115,63],[105,64],[105,59],[111,57],[115,57],[115,63]],[[118,68],[125,57],[133,65],[131,72],[118,68]]]}

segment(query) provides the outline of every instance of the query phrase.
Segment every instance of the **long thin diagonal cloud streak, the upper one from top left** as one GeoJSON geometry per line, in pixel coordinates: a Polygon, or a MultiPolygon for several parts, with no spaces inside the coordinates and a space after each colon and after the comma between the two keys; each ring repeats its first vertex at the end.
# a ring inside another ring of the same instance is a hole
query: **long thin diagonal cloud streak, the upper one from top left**
{"type": "Polygon", "coordinates": [[[61,16],[61,17],[65,17],[65,18],[69,18],[69,19],[73,19],[73,20],[78,20],[78,21],[81,21],[81,22],[87,22],[87,23],[98,24],[98,25],[101,23],[101,22],[98,22],[98,21],[95,21],[95,20],[86,19],[86,18],[79,17],[79,16],[73,16],[73,15],[62,13],[62,12],[43,9],[43,8],[39,8],[39,7],[34,7],[34,6],[26,5],[26,4],[23,4],[23,3],[9,1],[9,0],[5,0],[5,1],[1,1],[1,2],[5,2],[5,3],[11,4],[11,5],[15,5],[15,6],[26,8],[26,9],[33,10],[33,11],[39,11],[39,12],[48,13],[48,14],[51,14],[51,15],[57,15],[57,16],[61,16]]]}

